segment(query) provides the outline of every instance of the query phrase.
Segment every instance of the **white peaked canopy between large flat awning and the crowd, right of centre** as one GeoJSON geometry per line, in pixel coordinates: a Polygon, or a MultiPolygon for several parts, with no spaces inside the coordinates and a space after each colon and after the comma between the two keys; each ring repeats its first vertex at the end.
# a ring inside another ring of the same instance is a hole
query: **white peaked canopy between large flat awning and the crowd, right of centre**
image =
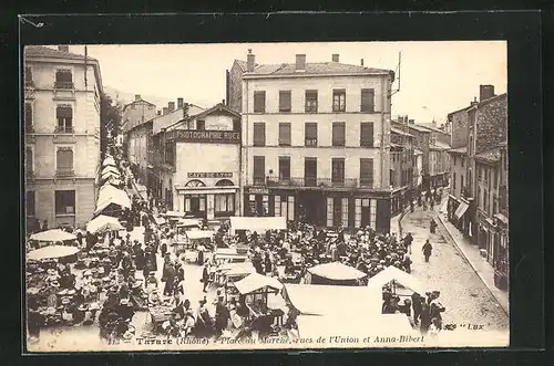
{"type": "Polygon", "coordinates": [[[367,274],[340,262],[315,265],[308,269],[306,283],[359,286],[367,274]]]}

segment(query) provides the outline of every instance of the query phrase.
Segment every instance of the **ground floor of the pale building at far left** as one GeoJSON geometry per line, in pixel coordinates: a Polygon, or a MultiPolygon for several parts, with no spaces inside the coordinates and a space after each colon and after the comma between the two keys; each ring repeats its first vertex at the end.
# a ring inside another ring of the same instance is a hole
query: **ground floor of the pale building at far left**
{"type": "MultiPolygon", "coordinates": [[[[25,185],[25,216],[48,227],[83,228],[94,213],[94,178],[34,179],[25,185]]],[[[28,220],[30,221],[30,220],[28,220]]]]}

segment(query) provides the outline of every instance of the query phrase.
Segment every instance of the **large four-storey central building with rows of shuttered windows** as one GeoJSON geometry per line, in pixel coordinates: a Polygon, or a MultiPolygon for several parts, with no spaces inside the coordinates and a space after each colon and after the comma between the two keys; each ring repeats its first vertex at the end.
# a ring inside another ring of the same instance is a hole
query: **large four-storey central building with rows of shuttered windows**
{"type": "Polygon", "coordinates": [[[339,55],[259,65],[249,53],[240,213],[389,231],[393,79],[388,70],[341,64],[339,55]]]}

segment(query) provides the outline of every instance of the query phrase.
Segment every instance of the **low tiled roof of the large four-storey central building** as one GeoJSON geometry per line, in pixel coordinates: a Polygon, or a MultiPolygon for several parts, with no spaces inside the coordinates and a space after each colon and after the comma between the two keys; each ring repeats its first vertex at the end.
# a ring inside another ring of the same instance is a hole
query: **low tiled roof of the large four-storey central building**
{"type": "MultiPolygon", "coordinates": [[[[242,64],[239,64],[243,67],[242,64]]],[[[246,69],[243,69],[246,70],[246,69]]],[[[338,62],[306,63],[306,71],[297,72],[296,64],[256,64],[254,75],[301,75],[301,74],[388,74],[390,70],[372,69],[338,62]]]]}

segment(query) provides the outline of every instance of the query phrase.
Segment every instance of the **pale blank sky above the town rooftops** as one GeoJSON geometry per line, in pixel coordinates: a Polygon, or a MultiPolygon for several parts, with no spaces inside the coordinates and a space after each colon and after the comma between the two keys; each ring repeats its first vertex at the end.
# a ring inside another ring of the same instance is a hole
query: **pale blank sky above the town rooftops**
{"type": "MultiPolygon", "coordinates": [[[[225,70],[253,50],[257,63],[331,61],[397,70],[402,52],[401,90],[392,97],[392,116],[409,115],[417,123],[444,122],[449,112],[479,98],[479,85],[506,92],[507,48],[504,41],[327,42],[89,45],[100,61],[103,84],[129,95],[185,101],[204,107],[225,98],[225,70]]],[[[71,45],[84,53],[82,45],[71,45]]],[[[397,72],[398,79],[398,72],[397,72]]],[[[398,82],[394,83],[398,86],[398,82]]],[[[151,101],[156,103],[155,101],[151,101]]],[[[165,105],[158,105],[162,108],[165,105]]]]}

